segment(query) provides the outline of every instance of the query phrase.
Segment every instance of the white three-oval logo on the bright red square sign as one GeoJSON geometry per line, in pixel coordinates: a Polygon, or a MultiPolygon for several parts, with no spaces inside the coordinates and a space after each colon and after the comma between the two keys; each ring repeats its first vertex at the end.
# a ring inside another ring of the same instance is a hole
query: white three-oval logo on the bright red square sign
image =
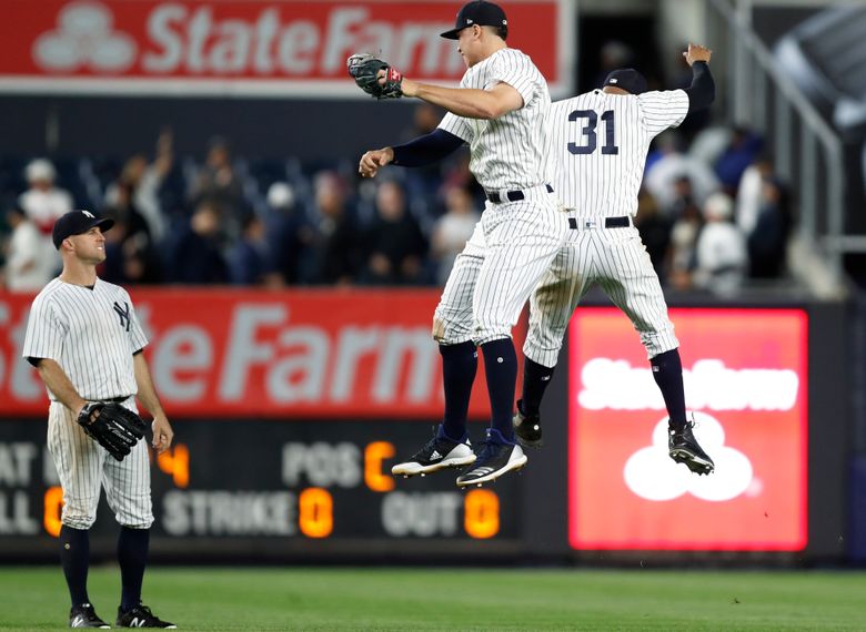
{"type": "Polygon", "coordinates": [[[675,463],[667,453],[667,418],[656,424],[652,445],[641,448],[625,463],[623,478],[634,493],[652,501],[665,501],[691,493],[713,502],[731,500],[748,492],[761,492],[753,480],[752,462],[743,452],[725,445],[725,430],[711,415],[695,412],[695,437],[713,459],[716,471],[695,476],[675,463]]]}

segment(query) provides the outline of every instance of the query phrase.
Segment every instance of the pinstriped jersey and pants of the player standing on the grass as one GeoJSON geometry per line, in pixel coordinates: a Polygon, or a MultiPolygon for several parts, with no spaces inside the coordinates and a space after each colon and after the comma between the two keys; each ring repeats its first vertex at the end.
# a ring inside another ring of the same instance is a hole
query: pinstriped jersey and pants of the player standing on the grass
{"type": "MultiPolygon", "coordinates": [[[[33,300],[23,356],[57,361],[84,399],[123,398],[123,406],[138,412],[133,354],[147,344],[125,289],[99,278],[92,289],[56,278],[33,300]]],[[[120,524],[149,528],[153,514],[145,442],[117,461],[84,434],[73,411],[50,390],[48,396],[48,448],[63,488],[63,524],[89,529],[102,486],[120,524]]]]}

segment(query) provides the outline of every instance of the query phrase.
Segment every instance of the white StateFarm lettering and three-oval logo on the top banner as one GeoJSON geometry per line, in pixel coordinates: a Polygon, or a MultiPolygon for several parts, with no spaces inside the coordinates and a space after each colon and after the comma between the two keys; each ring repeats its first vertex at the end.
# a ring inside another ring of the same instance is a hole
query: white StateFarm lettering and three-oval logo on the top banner
{"type": "Polygon", "coordinates": [[[371,7],[333,3],[308,16],[300,2],[142,3],[150,6],[118,3],[113,13],[94,0],[64,6],[54,30],[36,38],[34,62],[48,72],[124,73],[138,67],[160,77],[343,79],[349,54],[375,50],[422,75],[459,77],[464,70],[453,42],[439,37],[451,24],[419,20],[410,9],[380,16],[371,7]]]}

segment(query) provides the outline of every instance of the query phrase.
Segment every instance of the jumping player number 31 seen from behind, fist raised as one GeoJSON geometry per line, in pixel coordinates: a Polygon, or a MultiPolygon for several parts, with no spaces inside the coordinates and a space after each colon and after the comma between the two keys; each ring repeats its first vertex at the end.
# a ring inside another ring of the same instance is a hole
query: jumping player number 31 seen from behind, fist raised
{"type": "Polygon", "coordinates": [[[711,51],[689,44],[683,55],[694,75],[686,90],[646,92],[646,80],[637,71],[621,69],[607,75],[603,89],[551,106],[560,161],[554,186],[568,208],[572,230],[568,246],[530,302],[523,396],[514,416],[517,438],[525,446],[541,445],[541,399],[565,328],[580,299],[597,283],[641,335],[669,416],[671,458],[694,472],[714,469],[695,440],[694,421],[686,419],[679,343],[633,222],[651,141],[689,112],[707,108],[715,96],[707,65],[711,51]]]}

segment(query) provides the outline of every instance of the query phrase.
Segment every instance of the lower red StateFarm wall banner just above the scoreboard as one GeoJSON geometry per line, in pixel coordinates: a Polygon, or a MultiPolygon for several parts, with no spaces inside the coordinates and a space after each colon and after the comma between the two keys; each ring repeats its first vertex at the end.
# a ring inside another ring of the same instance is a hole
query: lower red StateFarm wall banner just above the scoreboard
{"type": "MultiPolygon", "coordinates": [[[[431,337],[440,292],[130,290],[171,416],[437,419],[441,359],[431,337]]],[[[0,416],[46,414],[21,359],[32,297],[0,295],[0,416]]],[[[515,332],[522,344],[521,326],[515,332]]],[[[470,405],[487,418],[483,360],[470,405]]]]}

